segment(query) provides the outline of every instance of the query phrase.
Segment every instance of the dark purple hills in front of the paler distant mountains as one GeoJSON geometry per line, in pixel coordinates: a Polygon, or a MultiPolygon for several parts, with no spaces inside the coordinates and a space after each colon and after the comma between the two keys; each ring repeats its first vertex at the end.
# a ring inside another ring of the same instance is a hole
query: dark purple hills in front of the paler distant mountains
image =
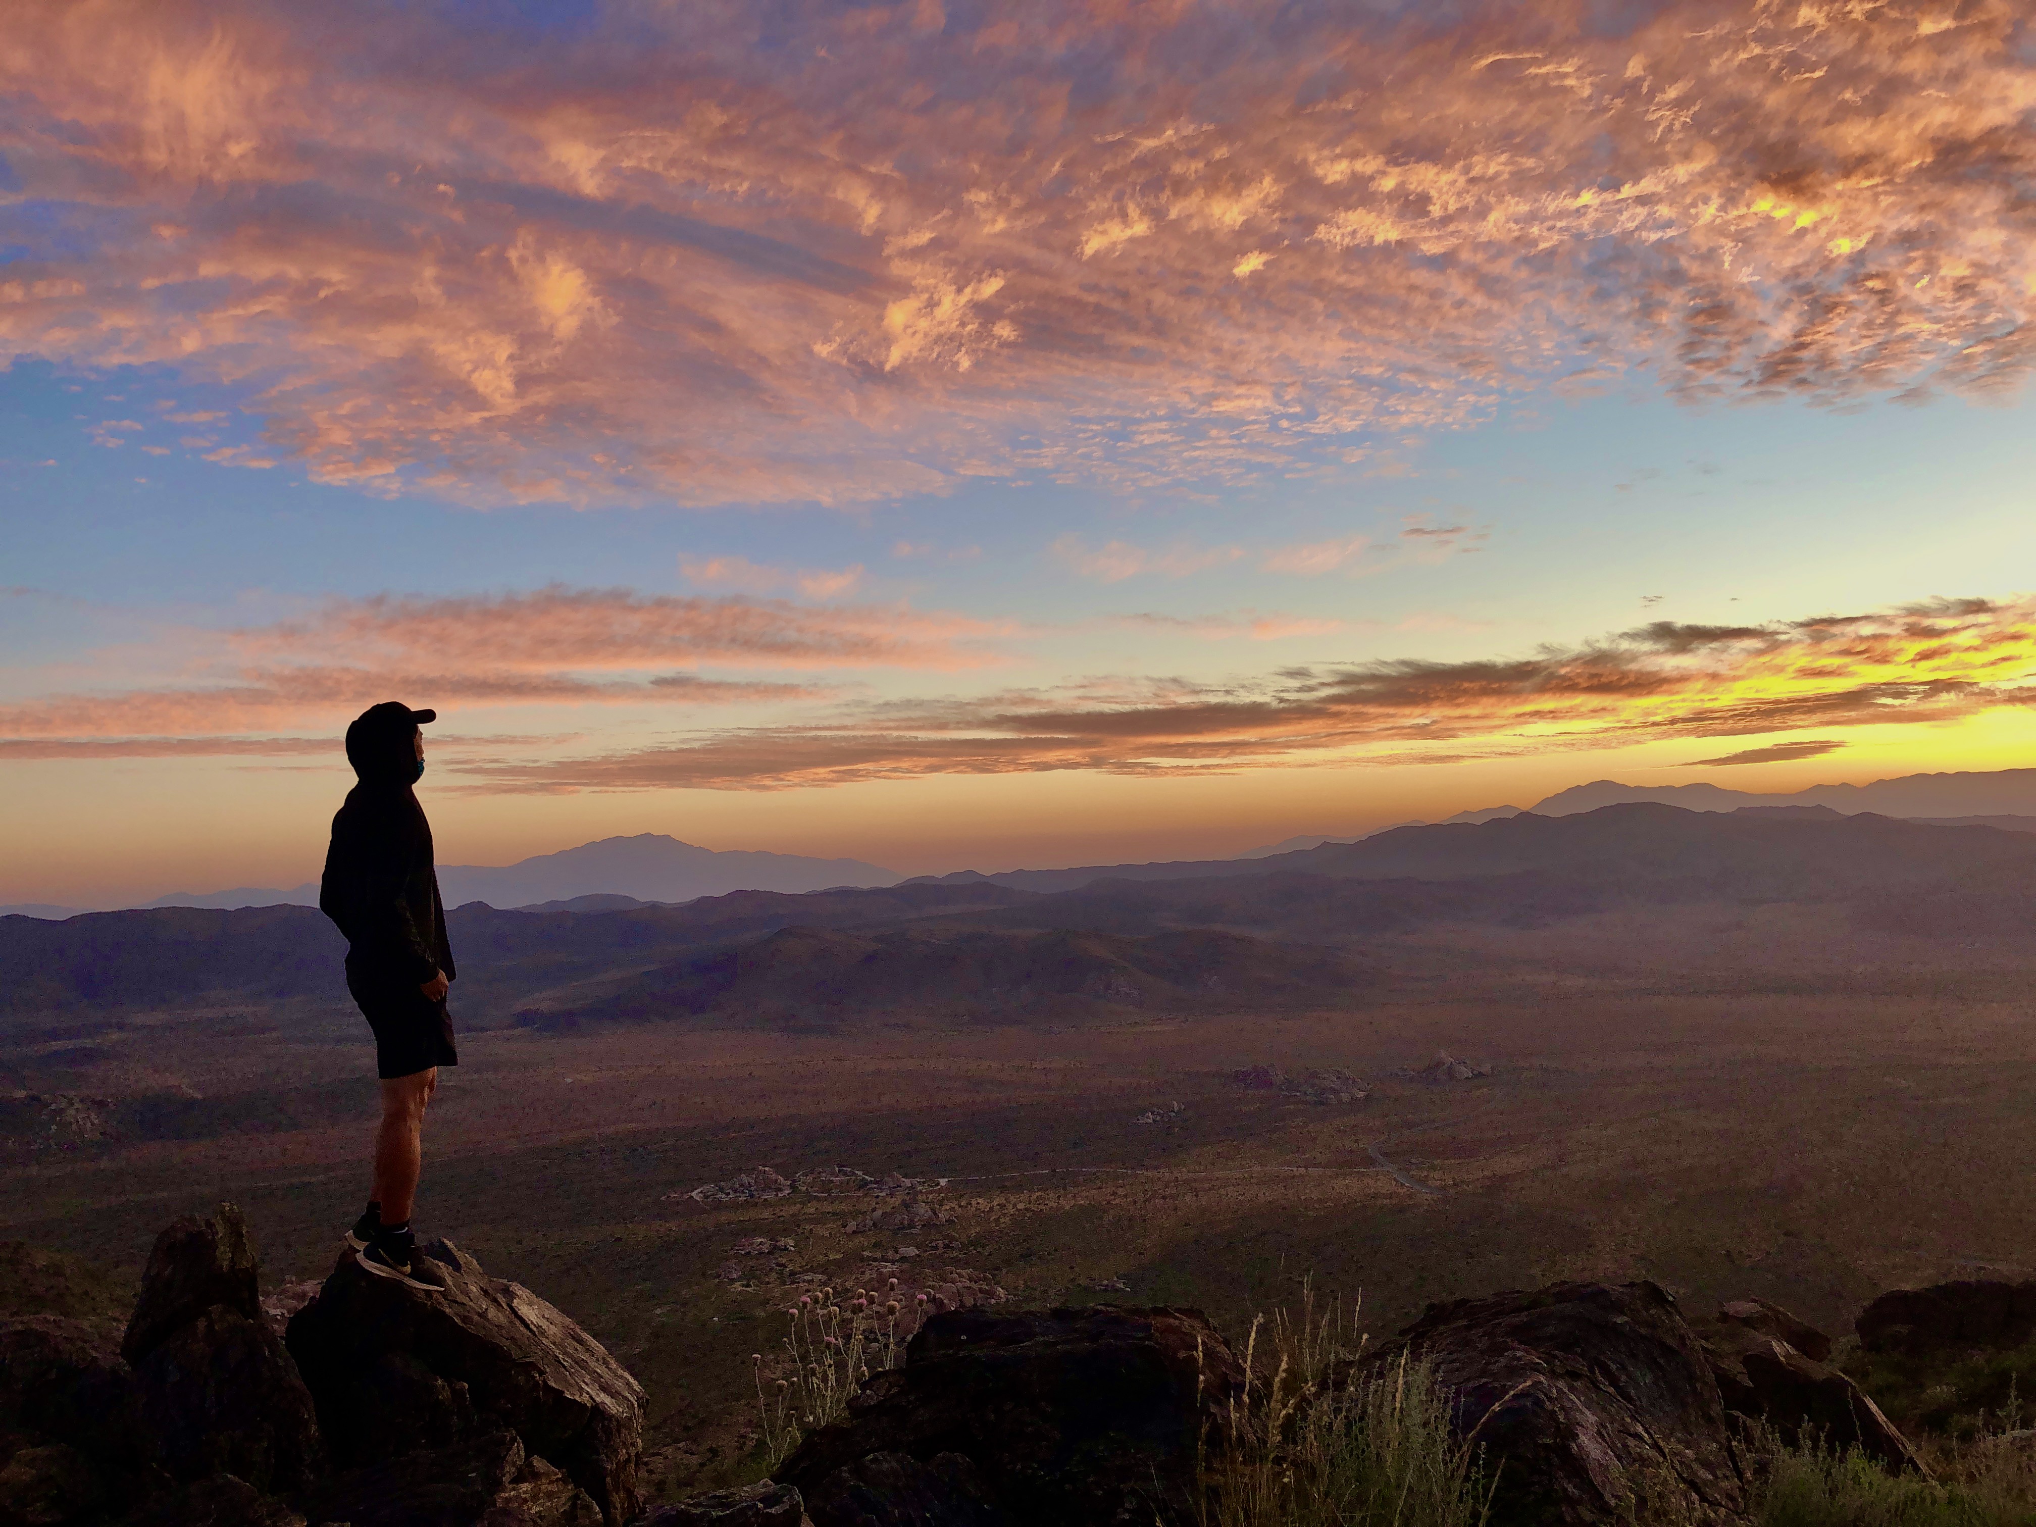
{"type": "MultiPolygon", "coordinates": [[[[1659,930],[1684,924],[1684,908],[1777,904],[1800,908],[1798,922],[1816,908],[1826,941],[1955,941],[1961,961],[1973,941],[2022,947],[2036,937],[2036,835],[1828,806],[1629,802],[1399,827],[1258,861],[947,875],[592,912],[468,904],[448,920],[470,1024],[839,1028],[1348,1008],[1368,1000],[1380,941],[1423,928],[1464,949],[1486,937],[1480,928],[1613,912],[1659,930]]],[[[128,1014],[338,1010],[342,955],[332,924],[303,906],[0,918],[0,1026],[41,1026],[33,1032],[59,1040],[118,1028],[128,1014]]]]}

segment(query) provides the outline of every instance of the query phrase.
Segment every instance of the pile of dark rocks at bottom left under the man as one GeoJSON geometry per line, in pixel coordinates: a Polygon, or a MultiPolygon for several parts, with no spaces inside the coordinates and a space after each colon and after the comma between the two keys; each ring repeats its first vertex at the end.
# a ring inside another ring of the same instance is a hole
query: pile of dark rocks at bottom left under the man
{"type": "Polygon", "coordinates": [[[155,1242],[118,1350],[0,1321],[0,1523],[621,1527],[641,1513],[643,1391],[607,1350],[450,1242],[417,1295],[342,1256],[277,1330],[240,1211],[155,1242]]]}

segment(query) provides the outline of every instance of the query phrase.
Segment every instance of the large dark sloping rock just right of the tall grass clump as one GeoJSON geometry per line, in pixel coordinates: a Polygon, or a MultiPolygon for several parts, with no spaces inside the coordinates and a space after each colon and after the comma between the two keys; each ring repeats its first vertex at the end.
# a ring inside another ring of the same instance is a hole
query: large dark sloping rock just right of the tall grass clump
{"type": "Polygon", "coordinates": [[[1747,1521],[1702,1346],[1653,1283],[1553,1283],[1429,1305],[1368,1362],[1427,1358],[1498,1484],[1492,1523],[1747,1521]]]}

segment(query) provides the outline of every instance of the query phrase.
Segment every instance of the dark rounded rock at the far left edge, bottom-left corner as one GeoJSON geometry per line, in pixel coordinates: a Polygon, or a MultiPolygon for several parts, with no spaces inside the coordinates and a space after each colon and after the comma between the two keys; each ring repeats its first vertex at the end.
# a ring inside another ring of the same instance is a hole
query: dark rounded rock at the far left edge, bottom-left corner
{"type": "MultiPolygon", "coordinates": [[[[61,1315],[0,1321],[0,1429],[86,1458],[112,1507],[169,1484],[143,1425],[134,1374],[83,1321],[61,1315]]],[[[51,1478],[65,1470],[57,1456],[37,1468],[51,1478]]]]}

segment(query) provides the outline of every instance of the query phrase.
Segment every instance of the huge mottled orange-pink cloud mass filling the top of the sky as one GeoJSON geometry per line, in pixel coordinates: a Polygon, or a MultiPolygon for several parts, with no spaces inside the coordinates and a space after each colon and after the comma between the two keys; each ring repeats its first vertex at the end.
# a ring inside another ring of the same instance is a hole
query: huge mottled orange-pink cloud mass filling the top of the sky
{"type": "Polygon", "coordinates": [[[540,49],[14,0],[0,195],[49,234],[0,348],[232,381],[238,464],[472,503],[1236,483],[1586,373],[2026,375],[2016,0],[1374,12],[698,0],[540,49]]]}

